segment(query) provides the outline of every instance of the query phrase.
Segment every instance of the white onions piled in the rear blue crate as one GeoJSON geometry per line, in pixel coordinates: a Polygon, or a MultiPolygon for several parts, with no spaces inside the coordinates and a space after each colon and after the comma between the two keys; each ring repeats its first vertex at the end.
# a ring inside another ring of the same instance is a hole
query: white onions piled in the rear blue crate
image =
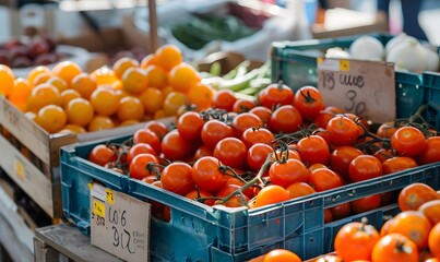
{"type": "Polygon", "coordinates": [[[411,72],[439,71],[439,53],[433,47],[402,33],[387,45],[372,36],[361,36],[347,50],[340,47],[326,50],[328,58],[350,58],[393,62],[397,70],[411,72]]]}

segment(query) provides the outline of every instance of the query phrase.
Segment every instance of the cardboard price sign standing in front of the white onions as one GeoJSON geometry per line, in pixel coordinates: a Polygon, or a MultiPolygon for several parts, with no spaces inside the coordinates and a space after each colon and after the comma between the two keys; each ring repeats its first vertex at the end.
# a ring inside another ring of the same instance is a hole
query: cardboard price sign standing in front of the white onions
{"type": "Polygon", "coordinates": [[[326,105],[373,122],[395,119],[395,79],[391,63],[320,58],[318,88],[326,105]]]}

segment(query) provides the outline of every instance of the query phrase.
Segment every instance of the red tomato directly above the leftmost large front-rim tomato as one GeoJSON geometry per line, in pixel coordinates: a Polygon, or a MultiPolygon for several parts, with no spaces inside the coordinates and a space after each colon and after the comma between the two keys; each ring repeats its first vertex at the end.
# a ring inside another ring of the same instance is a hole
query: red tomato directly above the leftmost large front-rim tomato
{"type": "Polygon", "coordinates": [[[177,129],[165,134],[162,140],[162,152],[169,160],[185,160],[192,153],[191,142],[180,136],[177,129]]]}

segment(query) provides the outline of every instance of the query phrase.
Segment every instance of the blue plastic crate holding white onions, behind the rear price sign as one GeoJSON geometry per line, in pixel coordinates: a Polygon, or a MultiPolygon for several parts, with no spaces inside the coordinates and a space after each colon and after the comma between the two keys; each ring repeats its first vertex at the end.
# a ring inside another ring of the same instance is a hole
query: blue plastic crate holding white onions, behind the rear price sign
{"type": "MultiPolygon", "coordinates": [[[[385,45],[391,35],[371,35],[385,45]]],[[[305,85],[318,85],[319,57],[332,47],[348,48],[359,36],[319,40],[277,41],[272,44],[272,81],[284,81],[294,91],[305,85]]],[[[395,72],[396,117],[412,116],[425,103],[421,74],[395,72]]]]}

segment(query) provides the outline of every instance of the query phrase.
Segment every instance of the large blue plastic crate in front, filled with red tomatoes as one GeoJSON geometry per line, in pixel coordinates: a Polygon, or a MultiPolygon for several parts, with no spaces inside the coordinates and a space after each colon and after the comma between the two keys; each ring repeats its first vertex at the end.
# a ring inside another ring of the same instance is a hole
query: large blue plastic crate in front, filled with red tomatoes
{"type": "Polygon", "coordinates": [[[61,148],[61,190],[67,217],[83,233],[90,233],[87,183],[92,180],[140,200],[168,205],[169,222],[154,217],[151,222],[153,261],[246,261],[275,247],[293,250],[302,259],[314,258],[331,251],[336,227],[347,219],[367,215],[380,227],[382,214],[388,212],[376,210],[324,225],[324,209],[399,190],[413,182],[440,189],[440,163],[437,163],[254,210],[211,207],[87,162],[85,157],[96,144],[99,142],[61,148]]]}

